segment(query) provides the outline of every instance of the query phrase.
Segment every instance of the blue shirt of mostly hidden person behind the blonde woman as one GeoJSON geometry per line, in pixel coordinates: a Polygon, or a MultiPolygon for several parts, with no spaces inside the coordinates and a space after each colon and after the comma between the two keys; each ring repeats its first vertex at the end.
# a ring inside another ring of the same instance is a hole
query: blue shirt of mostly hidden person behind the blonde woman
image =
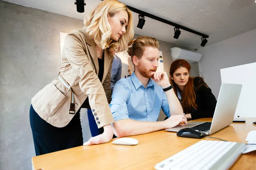
{"type": "Polygon", "coordinates": [[[111,90],[113,90],[116,82],[121,79],[122,74],[122,61],[117,55],[114,55],[111,69],[111,90]]]}

